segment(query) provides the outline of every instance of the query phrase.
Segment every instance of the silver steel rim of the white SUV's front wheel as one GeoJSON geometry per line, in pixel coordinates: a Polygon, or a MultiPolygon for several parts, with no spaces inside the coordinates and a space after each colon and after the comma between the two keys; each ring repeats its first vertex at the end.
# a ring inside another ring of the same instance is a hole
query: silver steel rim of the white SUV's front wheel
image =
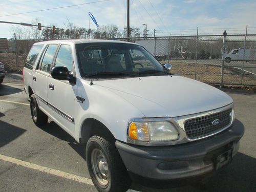
{"type": "Polygon", "coordinates": [[[109,166],[105,155],[95,148],[91,155],[92,169],[97,181],[105,186],[109,183],[109,166]]]}

